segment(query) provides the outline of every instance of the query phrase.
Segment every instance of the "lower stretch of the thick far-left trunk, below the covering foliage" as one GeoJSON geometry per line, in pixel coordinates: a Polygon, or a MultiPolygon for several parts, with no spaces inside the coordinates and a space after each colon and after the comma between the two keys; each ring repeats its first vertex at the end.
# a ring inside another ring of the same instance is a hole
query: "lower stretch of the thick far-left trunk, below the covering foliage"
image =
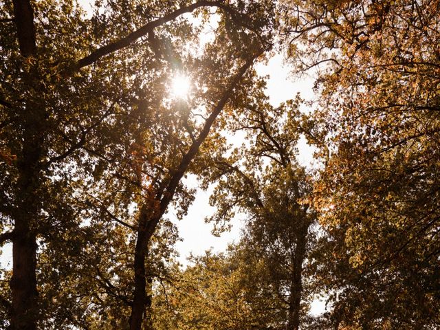
{"type": "MultiPolygon", "coordinates": [[[[32,113],[32,111],[29,111],[32,113]]],[[[36,113],[34,113],[36,114],[36,113]]],[[[22,157],[19,159],[17,208],[14,210],[14,239],[12,240],[12,329],[36,329],[38,318],[36,289],[36,234],[38,217],[41,159],[41,122],[38,115],[28,118],[24,125],[22,157]]]]}

